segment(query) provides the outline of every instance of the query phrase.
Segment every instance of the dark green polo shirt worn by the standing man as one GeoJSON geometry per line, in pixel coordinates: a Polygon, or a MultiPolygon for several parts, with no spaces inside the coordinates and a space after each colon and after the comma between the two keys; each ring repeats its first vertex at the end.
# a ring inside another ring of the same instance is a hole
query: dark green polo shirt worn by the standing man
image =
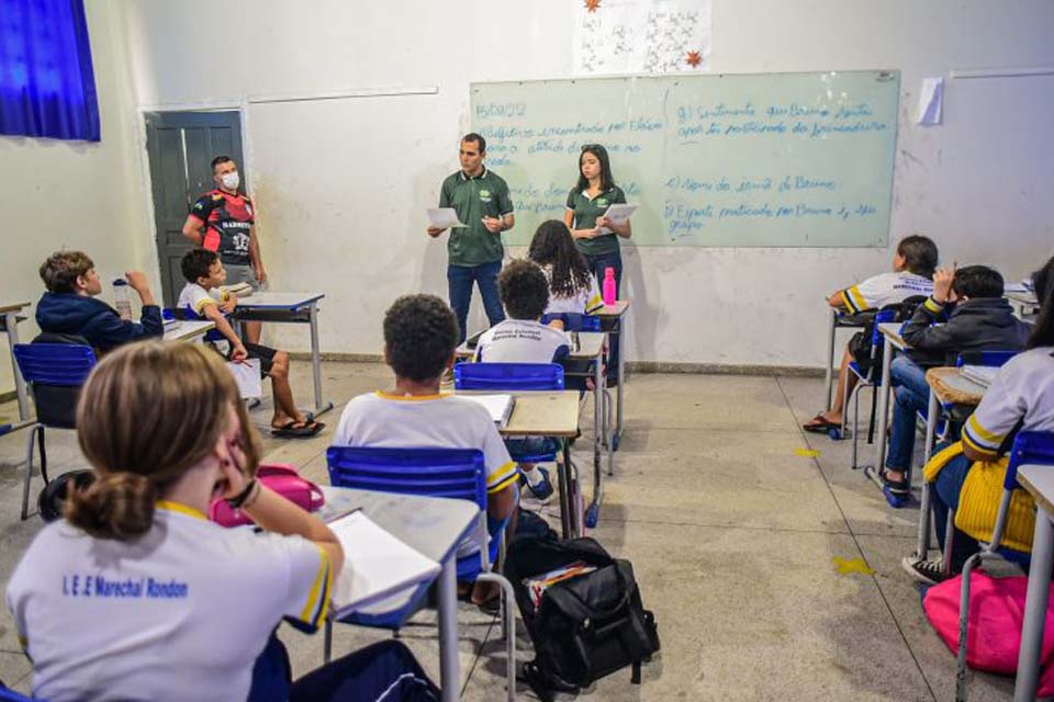
{"type": "Polygon", "coordinates": [[[504,217],[513,214],[513,199],[505,181],[486,167],[475,178],[464,171],[448,176],[439,191],[439,206],[453,207],[458,219],[467,227],[450,229],[447,252],[450,265],[481,265],[501,261],[505,254],[502,235],[491,234],[483,226],[483,217],[504,217]]]}

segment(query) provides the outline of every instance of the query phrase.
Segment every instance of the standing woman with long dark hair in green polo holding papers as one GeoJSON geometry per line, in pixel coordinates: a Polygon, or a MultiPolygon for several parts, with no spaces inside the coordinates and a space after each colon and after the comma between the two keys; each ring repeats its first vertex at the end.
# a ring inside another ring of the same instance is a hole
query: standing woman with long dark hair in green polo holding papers
{"type": "MultiPolygon", "coordinates": [[[[568,210],[563,213],[563,223],[571,229],[574,244],[585,257],[590,271],[596,278],[596,284],[604,288],[604,274],[607,269],[615,270],[615,296],[621,297],[623,256],[618,249],[618,238],[628,239],[632,235],[629,219],[615,224],[604,216],[610,205],[626,203],[626,193],[615,184],[612,178],[612,162],[607,149],[599,144],[586,144],[579,155],[579,182],[568,193],[568,210]],[[606,227],[612,234],[602,233],[606,227]]],[[[608,355],[608,385],[616,381],[618,367],[619,337],[612,337],[608,355]]]]}

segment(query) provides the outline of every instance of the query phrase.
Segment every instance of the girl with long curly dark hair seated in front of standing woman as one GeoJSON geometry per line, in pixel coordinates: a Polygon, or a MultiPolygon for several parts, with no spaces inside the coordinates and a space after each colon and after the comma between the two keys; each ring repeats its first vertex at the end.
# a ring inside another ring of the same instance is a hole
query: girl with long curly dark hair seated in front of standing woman
{"type": "MultiPolygon", "coordinates": [[[[592,315],[604,307],[596,278],[574,245],[568,225],[559,219],[542,222],[530,241],[527,257],[541,267],[549,280],[547,315],[592,315]]],[[[560,319],[549,324],[558,329],[563,328],[560,319]]]]}

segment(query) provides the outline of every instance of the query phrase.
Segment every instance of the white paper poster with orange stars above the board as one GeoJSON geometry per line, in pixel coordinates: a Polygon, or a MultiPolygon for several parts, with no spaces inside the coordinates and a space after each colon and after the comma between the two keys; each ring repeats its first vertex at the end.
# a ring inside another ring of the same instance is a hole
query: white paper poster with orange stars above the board
{"type": "Polygon", "coordinates": [[[699,71],[710,61],[710,0],[578,0],[574,72],[699,71]]]}

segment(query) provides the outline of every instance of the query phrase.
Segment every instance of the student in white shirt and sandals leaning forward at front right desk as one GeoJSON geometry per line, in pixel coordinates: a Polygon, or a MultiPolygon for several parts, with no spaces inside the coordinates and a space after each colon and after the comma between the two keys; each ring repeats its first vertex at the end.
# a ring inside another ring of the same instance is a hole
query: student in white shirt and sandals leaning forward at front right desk
{"type": "MultiPolygon", "coordinates": [[[[937,245],[929,237],[913,234],[900,239],[897,252],[893,257],[893,271],[868,278],[863,283],[850,285],[827,298],[827,304],[850,315],[868,309],[879,309],[885,305],[902,303],[909,297],[929,297],[933,294],[933,272],[937,270],[937,245]]],[[[838,388],[834,401],[801,426],[806,431],[827,433],[832,427],[842,426],[842,398],[856,386],[856,376],[849,372],[853,360],[849,349],[842,354],[842,365],[838,372],[838,388]]],[[[885,431],[885,428],[881,428],[885,431]]]]}

